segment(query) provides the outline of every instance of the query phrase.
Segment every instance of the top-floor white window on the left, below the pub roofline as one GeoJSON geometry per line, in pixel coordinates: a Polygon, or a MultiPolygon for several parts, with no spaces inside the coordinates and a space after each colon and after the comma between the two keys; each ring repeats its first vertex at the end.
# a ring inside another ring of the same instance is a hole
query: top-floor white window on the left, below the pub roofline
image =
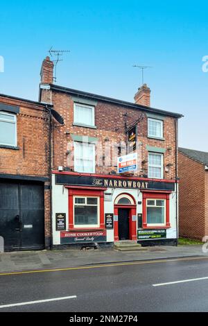
{"type": "Polygon", "coordinates": [[[94,106],[74,103],[73,122],[94,127],[94,106]]]}

